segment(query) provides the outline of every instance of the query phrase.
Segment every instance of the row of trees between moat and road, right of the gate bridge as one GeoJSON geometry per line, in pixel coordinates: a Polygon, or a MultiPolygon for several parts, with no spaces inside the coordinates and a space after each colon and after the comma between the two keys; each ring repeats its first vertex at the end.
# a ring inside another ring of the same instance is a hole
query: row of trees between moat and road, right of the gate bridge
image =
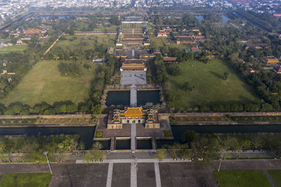
{"type": "Polygon", "coordinates": [[[221,158],[233,158],[230,151],[235,151],[234,158],[240,158],[244,150],[273,151],[276,158],[281,157],[280,135],[256,134],[256,135],[218,135],[199,134],[194,131],[185,131],[181,142],[164,145],[159,148],[156,158],[163,160],[169,151],[173,158],[191,158],[209,162],[221,158]]]}

